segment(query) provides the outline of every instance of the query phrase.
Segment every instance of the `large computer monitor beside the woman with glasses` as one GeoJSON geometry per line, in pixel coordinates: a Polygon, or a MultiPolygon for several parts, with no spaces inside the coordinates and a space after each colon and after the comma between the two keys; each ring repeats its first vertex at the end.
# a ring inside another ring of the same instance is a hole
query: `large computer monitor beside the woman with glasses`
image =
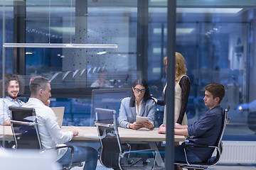
{"type": "Polygon", "coordinates": [[[94,126],[95,123],[95,108],[112,109],[116,111],[118,117],[122,98],[131,96],[131,91],[131,89],[93,89],[90,125],[94,126]]]}

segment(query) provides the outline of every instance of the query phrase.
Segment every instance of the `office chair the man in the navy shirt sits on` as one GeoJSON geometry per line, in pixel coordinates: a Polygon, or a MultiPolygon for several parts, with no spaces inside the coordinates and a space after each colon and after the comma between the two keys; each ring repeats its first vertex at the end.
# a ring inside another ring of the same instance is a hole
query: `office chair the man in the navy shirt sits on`
{"type": "Polygon", "coordinates": [[[222,138],[225,132],[225,127],[228,123],[230,123],[230,118],[228,118],[229,109],[230,109],[230,106],[228,106],[228,108],[225,108],[223,111],[222,128],[220,130],[220,135],[218,136],[218,140],[215,146],[194,145],[194,144],[188,144],[188,143],[186,144],[185,142],[181,144],[181,147],[183,147],[185,152],[185,157],[186,157],[186,147],[189,147],[189,146],[215,148],[216,154],[214,154],[215,152],[213,152],[212,157],[210,157],[210,159],[208,159],[208,161],[206,162],[189,163],[186,157],[186,162],[174,162],[174,164],[180,165],[182,168],[186,168],[186,169],[207,169],[208,166],[214,166],[215,164],[217,164],[218,161],[220,160],[220,156],[223,150],[222,138]]]}

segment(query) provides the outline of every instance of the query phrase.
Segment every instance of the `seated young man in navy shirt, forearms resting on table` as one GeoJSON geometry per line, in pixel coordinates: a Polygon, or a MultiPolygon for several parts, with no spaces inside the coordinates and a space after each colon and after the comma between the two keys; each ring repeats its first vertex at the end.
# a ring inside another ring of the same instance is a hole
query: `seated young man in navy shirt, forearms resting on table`
{"type": "MultiPolygon", "coordinates": [[[[220,135],[223,109],[220,108],[220,101],[225,95],[225,88],[222,84],[212,83],[205,88],[203,101],[209,107],[206,115],[197,120],[193,125],[175,125],[174,134],[188,137],[188,143],[196,145],[216,145],[220,135]]],[[[186,154],[188,162],[204,162],[213,153],[213,148],[187,147],[186,154]]],[[[186,162],[185,154],[181,146],[175,147],[175,161],[186,162]]]]}

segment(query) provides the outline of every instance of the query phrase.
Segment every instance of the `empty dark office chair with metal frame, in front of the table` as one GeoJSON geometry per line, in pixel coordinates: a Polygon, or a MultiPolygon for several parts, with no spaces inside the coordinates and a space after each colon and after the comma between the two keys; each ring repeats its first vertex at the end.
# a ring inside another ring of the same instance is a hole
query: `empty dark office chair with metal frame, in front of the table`
{"type": "MultiPolygon", "coordinates": [[[[155,165],[156,152],[153,149],[144,149],[137,151],[124,151],[122,149],[117,128],[117,118],[114,110],[95,108],[95,115],[95,125],[97,126],[101,145],[100,163],[103,166],[115,170],[137,169],[134,164],[124,164],[124,160],[127,160],[130,154],[143,154],[149,152],[154,152],[155,165]]],[[[151,167],[151,169],[154,169],[154,165],[151,167]]],[[[142,167],[139,167],[139,169],[142,169],[142,167]]]]}

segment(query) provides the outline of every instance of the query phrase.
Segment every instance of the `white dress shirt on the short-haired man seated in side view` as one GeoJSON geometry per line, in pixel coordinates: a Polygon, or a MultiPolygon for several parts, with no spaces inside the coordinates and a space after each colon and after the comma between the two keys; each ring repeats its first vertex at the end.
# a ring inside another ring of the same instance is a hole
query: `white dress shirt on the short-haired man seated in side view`
{"type": "MultiPolygon", "coordinates": [[[[22,107],[35,108],[36,118],[38,123],[38,131],[41,138],[43,149],[49,149],[63,145],[73,138],[73,132],[63,132],[56,120],[55,113],[51,108],[44,105],[42,101],[37,98],[29,98],[28,102],[22,107]]],[[[67,148],[50,149],[56,154],[56,160],[63,157],[67,148]]],[[[46,151],[47,152],[47,151],[46,151]]]]}

